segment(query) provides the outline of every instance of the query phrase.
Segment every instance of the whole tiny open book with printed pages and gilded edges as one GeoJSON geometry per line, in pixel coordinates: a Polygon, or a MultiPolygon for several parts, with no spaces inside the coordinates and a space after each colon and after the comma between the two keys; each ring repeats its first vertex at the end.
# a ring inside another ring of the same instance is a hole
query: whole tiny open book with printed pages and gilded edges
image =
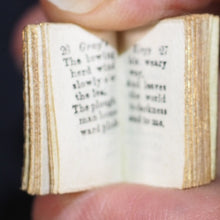
{"type": "Polygon", "coordinates": [[[22,189],[215,178],[219,19],[188,15],[122,32],[24,30],[22,189]]]}

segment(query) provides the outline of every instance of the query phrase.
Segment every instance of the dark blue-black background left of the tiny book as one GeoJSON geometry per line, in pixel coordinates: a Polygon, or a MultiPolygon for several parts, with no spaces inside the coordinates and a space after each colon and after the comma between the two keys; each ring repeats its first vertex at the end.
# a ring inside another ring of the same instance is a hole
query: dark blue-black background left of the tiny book
{"type": "Polygon", "coordinates": [[[35,0],[1,2],[0,219],[30,219],[32,197],[20,190],[23,159],[22,74],[10,54],[13,28],[35,0]]]}

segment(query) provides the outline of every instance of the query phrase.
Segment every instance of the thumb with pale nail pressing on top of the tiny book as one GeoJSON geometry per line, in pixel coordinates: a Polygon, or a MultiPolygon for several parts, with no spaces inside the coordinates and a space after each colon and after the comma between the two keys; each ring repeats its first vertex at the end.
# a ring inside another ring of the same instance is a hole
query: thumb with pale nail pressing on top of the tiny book
{"type": "MultiPolygon", "coordinates": [[[[216,0],[217,1],[217,0],[216,0]]],[[[52,21],[125,30],[208,7],[214,0],[41,0],[52,21]]]]}

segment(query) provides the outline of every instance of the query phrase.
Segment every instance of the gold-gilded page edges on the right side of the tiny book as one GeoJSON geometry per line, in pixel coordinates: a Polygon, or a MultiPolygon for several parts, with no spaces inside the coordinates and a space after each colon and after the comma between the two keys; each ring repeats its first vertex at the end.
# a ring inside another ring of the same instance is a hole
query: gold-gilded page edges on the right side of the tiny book
{"type": "MultiPolygon", "coordinates": [[[[210,111],[209,111],[209,104],[207,104],[207,103],[210,103],[209,96],[211,95],[211,94],[209,94],[209,69],[208,69],[208,67],[210,65],[209,57],[208,57],[208,59],[206,59],[206,62],[202,64],[202,65],[204,65],[203,69],[205,71],[205,73],[204,73],[205,79],[204,80],[201,79],[202,83],[203,83],[202,89],[205,89],[204,95],[199,94],[200,95],[199,99],[200,99],[200,102],[202,102],[201,104],[203,106],[202,106],[202,113],[201,113],[202,120],[199,119],[197,135],[199,133],[200,134],[202,133],[202,142],[203,142],[202,146],[200,146],[201,143],[199,143],[197,141],[196,141],[197,142],[196,145],[198,145],[198,146],[193,146],[193,141],[192,141],[193,123],[192,123],[192,120],[189,120],[189,117],[192,117],[192,115],[191,116],[188,115],[188,114],[192,114],[192,112],[190,110],[190,105],[192,106],[192,98],[190,97],[192,95],[191,94],[192,90],[189,87],[190,87],[190,85],[192,85],[192,82],[190,82],[192,80],[191,73],[195,74],[195,72],[193,72],[194,67],[192,65],[195,64],[194,61],[196,58],[193,58],[193,57],[199,56],[199,55],[201,56],[201,54],[203,54],[204,52],[205,53],[209,52],[209,46],[210,46],[209,39],[208,39],[207,40],[208,45],[206,45],[205,48],[204,48],[204,46],[202,47],[202,49],[200,47],[197,47],[196,54],[192,53],[192,48],[193,48],[192,38],[194,38],[194,40],[197,40],[195,38],[195,36],[193,36],[193,32],[192,32],[192,28],[196,27],[196,24],[193,25],[192,23],[196,21],[196,23],[198,24],[198,20],[201,19],[200,25],[204,22],[204,20],[206,20],[205,22],[207,22],[207,24],[208,24],[210,17],[213,17],[213,16],[205,14],[205,15],[193,15],[191,17],[188,16],[188,17],[185,17],[185,19],[184,19],[185,33],[186,33],[185,34],[186,35],[186,49],[185,49],[186,60],[185,60],[185,168],[184,168],[184,180],[183,180],[183,186],[182,186],[183,188],[190,188],[190,187],[194,187],[194,186],[207,184],[207,183],[211,182],[211,179],[212,179],[211,178],[211,168],[210,168],[210,166],[211,166],[211,150],[210,150],[211,147],[209,146],[209,144],[210,144],[210,117],[209,117],[210,111]],[[199,48],[199,50],[198,50],[198,48],[199,48]],[[208,105],[208,107],[207,107],[207,105],[208,105]],[[195,148],[195,149],[193,149],[193,148],[195,148]],[[194,163],[194,165],[192,164],[192,162],[194,163]],[[194,176],[194,175],[196,175],[196,176],[194,176]]],[[[204,32],[207,32],[207,30],[205,30],[204,28],[203,28],[203,30],[204,30],[204,32]]],[[[203,34],[204,34],[204,32],[203,32],[203,34]]],[[[204,40],[204,39],[202,39],[202,40],[204,40]]],[[[199,43],[202,43],[202,41],[199,43]]],[[[199,67],[201,66],[200,64],[197,64],[197,65],[199,67]]],[[[201,69],[200,69],[200,71],[201,71],[201,69]]],[[[202,78],[202,77],[200,77],[200,78],[202,78]]],[[[199,87],[198,87],[198,89],[199,89],[199,87]]],[[[197,105],[199,105],[199,103],[197,103],[197,105]]],[[[197,117],[198,117],[198,115],[197,115],[197,117]]]]}

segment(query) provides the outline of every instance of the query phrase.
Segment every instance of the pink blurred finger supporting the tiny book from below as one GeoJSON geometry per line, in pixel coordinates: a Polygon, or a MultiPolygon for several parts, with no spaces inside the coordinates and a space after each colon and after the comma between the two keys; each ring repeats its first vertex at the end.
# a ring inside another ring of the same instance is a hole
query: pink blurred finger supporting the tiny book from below
{"type": "Polygon", "coordinates": [[[117,184],[78,194],[37,197],[33,219],[219,219],[219,184],[190,190],[117,184]]]}

